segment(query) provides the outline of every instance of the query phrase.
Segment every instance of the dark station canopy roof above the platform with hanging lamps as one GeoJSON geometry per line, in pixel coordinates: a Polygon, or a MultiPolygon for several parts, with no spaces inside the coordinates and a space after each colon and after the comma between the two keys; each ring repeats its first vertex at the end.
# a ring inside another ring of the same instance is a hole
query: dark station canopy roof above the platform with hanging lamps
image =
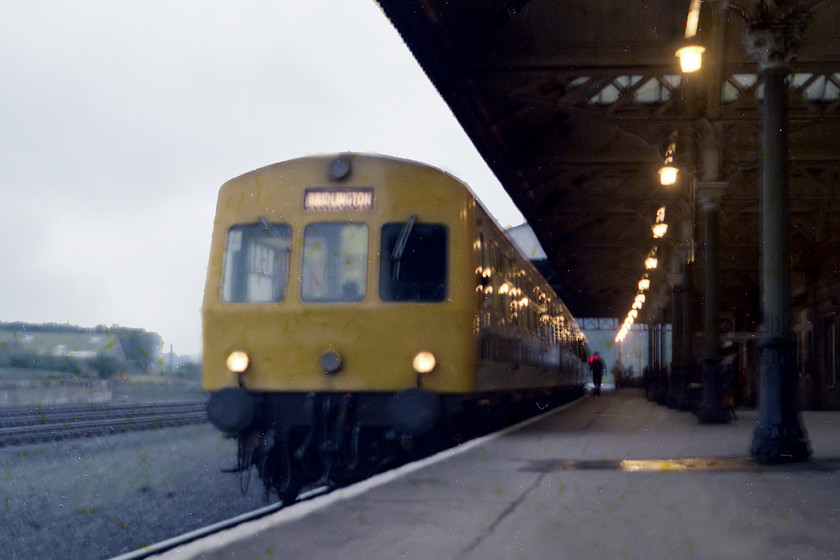
{"type": "Polygon", "coordinates": [[[685,262],[702,279],[698,191],[716,183],[721,303],[760,322],[763,83],[744,41],[762,8],[813,14],[789,77],[792,265],[797,282],[840,270],[840,3],[696,2],[691,39],[705,52],[684,74],[675,53],[691,4],[380,0],[578,317],[623,318],[645,275],[649,316],[665,309],[685,262]],[[663,187],[668,158],[678,177],[663,187]]]}

